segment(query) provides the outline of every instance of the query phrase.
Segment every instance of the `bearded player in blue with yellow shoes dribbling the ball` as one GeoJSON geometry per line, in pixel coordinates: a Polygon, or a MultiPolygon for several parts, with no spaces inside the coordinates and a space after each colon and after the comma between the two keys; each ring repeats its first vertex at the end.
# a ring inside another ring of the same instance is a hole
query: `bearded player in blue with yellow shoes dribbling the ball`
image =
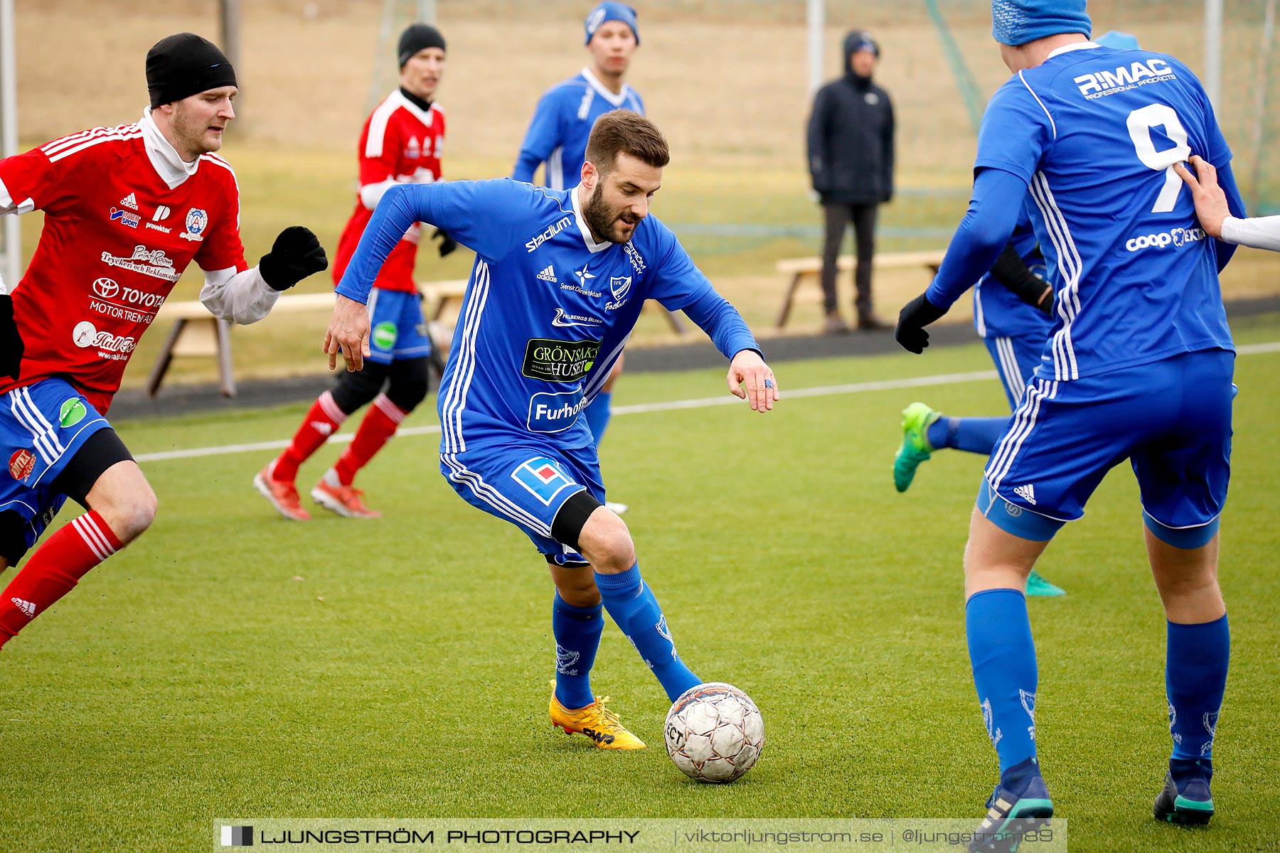
{"type": "Polygon", "coordinates": [[[440,471],[474,506],[520,527],[556,584],[552,723],[598,747],[639,749],[591,692],[602,604],[675,700],[701,683],[676,655],[640,577],[626,524],[604,505],[591,434],[579,417],[599,393],[645,299],[684,309],[731,358],[730,390],[767,412],[773,372],[733,307],[671,230],[648,216],[667,142],[644,116],[596,119],[575,189],[515,180],[387,191],[338,285],[329,364],[369,353],[365,299],[387,253],[422,221],[476,253],[440,380],[440,471]],[[403,224],[402,224],[403,223],[403,224]]]}

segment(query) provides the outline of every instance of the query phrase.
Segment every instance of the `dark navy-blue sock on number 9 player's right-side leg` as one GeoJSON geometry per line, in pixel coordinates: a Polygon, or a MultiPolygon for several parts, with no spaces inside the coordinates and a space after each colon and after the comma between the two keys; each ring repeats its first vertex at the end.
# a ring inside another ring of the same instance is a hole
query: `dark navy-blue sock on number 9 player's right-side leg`
{"type": "Polygon", "coordinates": [[[1213,729],[1226,691],[1231,632],[1226,616],[1198,625],[1169,623],[1165,692],[1169,733],[1174,738],[1170,766],[1213,758],[1213,729]]]}

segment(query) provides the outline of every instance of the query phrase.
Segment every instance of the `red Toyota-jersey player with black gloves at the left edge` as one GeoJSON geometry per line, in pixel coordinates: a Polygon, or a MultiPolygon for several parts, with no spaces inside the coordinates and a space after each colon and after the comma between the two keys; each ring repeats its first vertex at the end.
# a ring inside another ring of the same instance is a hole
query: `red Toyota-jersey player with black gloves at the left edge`
{"type": "Polygon", "coordinates": [[[67,497],[88,512],[50,536],[0,595],[0,646],[156,512],[142,471],[106,421],[138,338],[191,261],[219,317],[260,320],[279,292],[328,265],[287,228],[248,269],[239,192],[212,152],[233,118],[236,73],[212,42],[169,36],[147,52],[151,106],[0,160],[0,214],[45,211],[13,295],[0,295],[0,569],[15,565],[67,497]]]}

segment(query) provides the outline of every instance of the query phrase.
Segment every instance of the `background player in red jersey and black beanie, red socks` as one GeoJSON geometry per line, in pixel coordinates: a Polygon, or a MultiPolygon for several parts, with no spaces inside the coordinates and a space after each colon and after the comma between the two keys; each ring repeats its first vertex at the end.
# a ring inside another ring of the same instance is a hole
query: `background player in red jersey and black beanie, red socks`
{"type": "MultiPolygon", "coordinates": [[[[333,265],[337,284],[356,251],[378,200],[397,183],[440,180],[444,111],[431,98],[444,73],[444,37],[435,27],[412,24],[399,37],[399,88],[387,96],[360,134],[360,197],[338,243],[333,265]]],[[[392,249],[369,297],[372,327],[365,370],[338,377],[311,405],[293,441],[253,478],[253,486],[288,519],[311,518],[298,501],[298,466],[320,449],[356,409],[372,402],[356,436],[337,464],[311,490],[311,499],[347,518],[376,518],[352,487],[356,472],[369,464],[428,391],[428,357],[422,303],[413,283],[420,225],[415,224],[392,249]]],[[[440,256],[456,248],[439,229],[440,256]]]]}

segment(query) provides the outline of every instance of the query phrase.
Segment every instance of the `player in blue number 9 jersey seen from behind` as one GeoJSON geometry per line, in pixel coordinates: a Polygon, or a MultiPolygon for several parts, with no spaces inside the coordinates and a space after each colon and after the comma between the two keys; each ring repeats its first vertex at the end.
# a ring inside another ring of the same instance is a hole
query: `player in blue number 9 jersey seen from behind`
{"type": "Polygon", "coordinates": [[[1036,650],[1023,583],[1048,540],[1083,514],[1115,464],[1142,490],[1146,545],[1167,619],[1172,753],[1161,820],[1204,824],[1230,634],[1217,586],[1219,515],[1230,474],[1234,344],[1217,274],[1233,247],[1206,239],[1172,169],[1217,169],[1239,215],[1231,152],[1180,61],[1088,41],[1083,0],[995,0],[993,35],[1014,72],[983,118],[969,212],[897,339],[991,267],[1028,191],[1059,281],[1044,358],[992,453],[965,550],[969,655],[1000,784],[974,847],[1052,815],[1036,757],[1036,650]]]}

